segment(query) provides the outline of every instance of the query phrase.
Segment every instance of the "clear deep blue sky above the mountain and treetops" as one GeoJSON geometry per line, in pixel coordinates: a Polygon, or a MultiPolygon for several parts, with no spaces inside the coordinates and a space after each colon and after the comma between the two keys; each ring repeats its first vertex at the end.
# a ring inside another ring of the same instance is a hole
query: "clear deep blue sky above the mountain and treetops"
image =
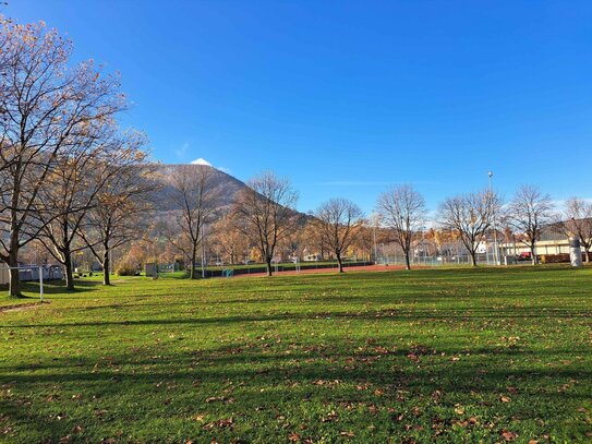
{"type": "Polygon", "coordinates": [[[487,184],[592,197],[592,1],[9,0],[122,74],[165,163],[288,176],[307,211],[487,184]]]}

